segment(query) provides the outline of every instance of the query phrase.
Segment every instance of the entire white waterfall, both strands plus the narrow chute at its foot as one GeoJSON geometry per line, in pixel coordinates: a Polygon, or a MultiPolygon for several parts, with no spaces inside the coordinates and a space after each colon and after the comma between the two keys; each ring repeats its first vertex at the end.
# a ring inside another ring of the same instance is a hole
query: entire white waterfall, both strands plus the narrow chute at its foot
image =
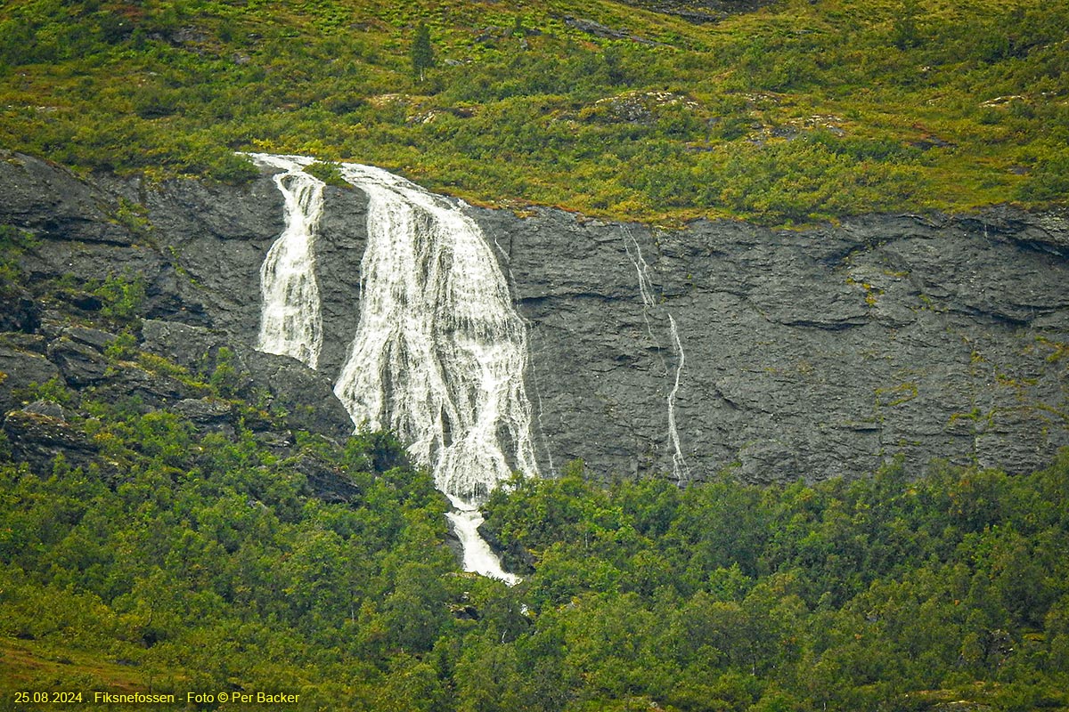
{"type": "MultiPolygon", "coordinates": [[[[309,354],[317,357],[315,339],[322,341],[319,292],[307,285],[315,285],[311,246],[323,184],[304,172],[311,158],[252,158],[284,172],[275,181],[286,205],[286,227],[262,269],[260,348],[315,367],[309,354]],[[273,257],[276,252],[284,256],[273,257]],[[275,316],[296,313],[315,326],[305,333],[293,327],[299,319],[275,316]]],[[[360,321],[335,393],[357,428],[392,429],[433,472],[455,507],[449,518],[464,547],[464,568],[515,583],[477,529],[479,505],[492,490],[513,471],[538,474],[524,385],[527,335],[508,284],[462,204],[381,169],[340,168],[369,204],[360,294],[354,295],[360,321]]]]}

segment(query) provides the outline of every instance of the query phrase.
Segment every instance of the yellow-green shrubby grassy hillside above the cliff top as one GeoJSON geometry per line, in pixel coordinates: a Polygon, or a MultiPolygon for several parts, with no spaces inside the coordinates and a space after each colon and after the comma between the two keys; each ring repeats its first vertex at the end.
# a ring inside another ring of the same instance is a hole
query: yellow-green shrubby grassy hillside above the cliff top
{"type": "Polygon", "coordinates": [[[299,152],[654,222],[1044,205],[1069,194],[1067,34],[1066,0],[703,23],[607,0],[10,0],[0,145],[226,180],[250,170],[234,149],[299,152]]]}

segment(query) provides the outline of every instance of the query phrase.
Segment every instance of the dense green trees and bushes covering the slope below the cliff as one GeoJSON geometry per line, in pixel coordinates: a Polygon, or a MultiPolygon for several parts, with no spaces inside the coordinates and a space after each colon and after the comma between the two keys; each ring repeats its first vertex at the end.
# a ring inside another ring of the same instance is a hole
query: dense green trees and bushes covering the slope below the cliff
{"type": "Polygon", "coordinates": [[[533,561],[510,589],[458,571],[429,476],[376,466],[400,457],[388,437],[303,437],[279,459],[247,432],[80,407],[105,457],[0,464],[4,705],[75,689],[284,690],[303,710],[1069,709],[1069,453],[1025,477],[892,465],[685,491],[573,466],[494,495],[490,528],[533,561]],[[311,496],[308,458],[358,494],[311,496]]]}

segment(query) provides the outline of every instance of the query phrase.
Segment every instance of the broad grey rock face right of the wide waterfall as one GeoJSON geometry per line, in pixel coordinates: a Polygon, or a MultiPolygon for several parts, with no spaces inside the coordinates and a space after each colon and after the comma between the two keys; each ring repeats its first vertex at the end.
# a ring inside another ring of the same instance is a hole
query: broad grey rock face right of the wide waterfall
{"type": "Polygon", "coordinates": [[[896,455],[1024,472],[1069,444],[1063,216],[869,217],[801,233],[482,217],[531,323],[558,465],[671,473],[677,374],[684,479],[728,465],[750,481],[849,476],[896,455]]]}

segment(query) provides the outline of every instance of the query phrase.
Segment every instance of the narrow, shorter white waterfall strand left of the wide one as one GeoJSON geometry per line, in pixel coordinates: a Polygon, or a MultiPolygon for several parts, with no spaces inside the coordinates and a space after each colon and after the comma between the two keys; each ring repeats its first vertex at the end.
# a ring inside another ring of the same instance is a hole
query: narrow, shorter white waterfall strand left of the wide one
{"type": "Polygon", "coordinates": [[[323,181],[304,172],[311,162],[291,156],[253,154],[275,175],[285,199],[285,228],[260,267],[260,338],[257,348],[289,355],[315,368],[323,347],[320,290],[312,251],[323,215],[323,181]]]}

